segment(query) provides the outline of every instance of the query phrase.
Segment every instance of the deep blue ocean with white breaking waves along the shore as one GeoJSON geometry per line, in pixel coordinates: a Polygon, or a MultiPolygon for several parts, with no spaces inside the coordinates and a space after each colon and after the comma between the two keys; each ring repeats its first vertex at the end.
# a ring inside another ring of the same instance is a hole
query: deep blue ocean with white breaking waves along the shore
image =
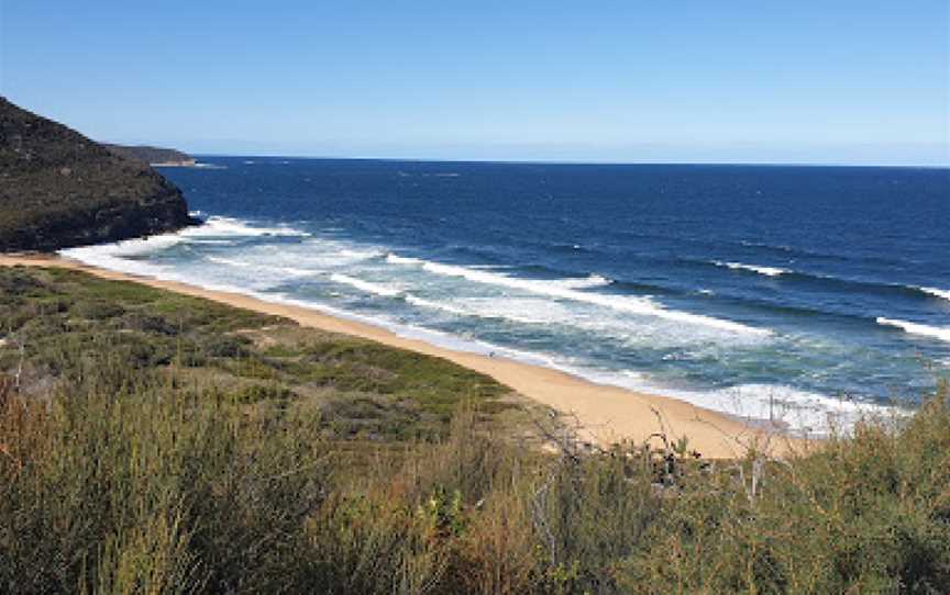
{"type": "Polygon", "coordinates": [[[950,373],[947,169],[202,161],[68,256],[815,431],[950,373]]]}

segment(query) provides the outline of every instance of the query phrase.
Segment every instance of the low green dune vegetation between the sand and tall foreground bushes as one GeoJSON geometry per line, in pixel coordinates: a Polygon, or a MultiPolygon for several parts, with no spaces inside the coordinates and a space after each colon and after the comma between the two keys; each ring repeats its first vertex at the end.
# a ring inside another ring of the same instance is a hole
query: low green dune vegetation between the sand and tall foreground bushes
{"type": "Polygon", "coordinates": [[[243,404],[317,407],[336,437],[378,439],[444,436],[463,400],[486,416],[513,408],[508,389],[439,358],[76,271],[0,270],[0,324],[23,347],[0,348],[0,370],[22,364],[24,394],[102,368],[117,384],[174,370],[243,404]]]}

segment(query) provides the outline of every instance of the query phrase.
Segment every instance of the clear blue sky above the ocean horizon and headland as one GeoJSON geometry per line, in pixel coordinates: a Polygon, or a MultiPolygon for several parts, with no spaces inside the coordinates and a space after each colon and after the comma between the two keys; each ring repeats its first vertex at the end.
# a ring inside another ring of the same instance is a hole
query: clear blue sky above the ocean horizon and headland
{"type": "Polygon", "coordinates": [[[0,0],[0,94],[197,154],[950,164],[950,2],[0,0]]]}

